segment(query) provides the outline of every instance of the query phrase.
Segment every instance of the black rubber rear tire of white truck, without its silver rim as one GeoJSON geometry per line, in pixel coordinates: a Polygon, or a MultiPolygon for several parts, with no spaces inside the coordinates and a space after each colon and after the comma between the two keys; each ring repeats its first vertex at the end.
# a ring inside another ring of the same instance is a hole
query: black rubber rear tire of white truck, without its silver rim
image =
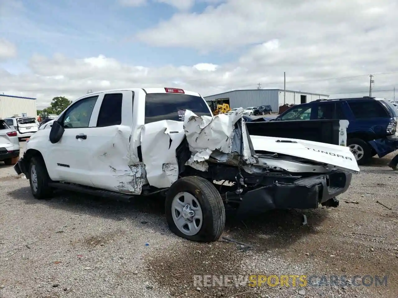
{"type": "Polygon", "coordinates": [[[217,241],[225,226],[225,208],[217,188],[198,176],[188,176],[178,179],[172,184],[166,195],[165,202],[166,220],[170,230],[181,238],[197,242],[217,241]],[[202,226],[194,235],[186,235],[174,223],[172,215],[172,202],[180,192],[187,192],[199,201],[202,209],[202,226]]]}

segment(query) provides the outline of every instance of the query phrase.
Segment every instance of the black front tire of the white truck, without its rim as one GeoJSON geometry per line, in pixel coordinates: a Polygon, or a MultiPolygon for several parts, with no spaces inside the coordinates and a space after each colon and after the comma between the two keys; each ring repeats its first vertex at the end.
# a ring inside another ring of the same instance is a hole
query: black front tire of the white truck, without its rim
{"type": "Polygon", "coordinates": [[[47,172],[47,168],[45,166],[45,163],[41,157],[32,157],[30,159],[30,164],[29,164],[29,184],[30,184],[30,190],[33,194],[33,197],[36,199],[42,200],[49,200],[51,199],[51,195],[53,194],[53,188],[49,186],[49,182],[51,182],[51,179],[49,177],[49,174],[47,172]],[[35,166],[36,170],[36,175],[37,175],[37,189],[35,190],[32,182],[32,167],[35,166]]]}

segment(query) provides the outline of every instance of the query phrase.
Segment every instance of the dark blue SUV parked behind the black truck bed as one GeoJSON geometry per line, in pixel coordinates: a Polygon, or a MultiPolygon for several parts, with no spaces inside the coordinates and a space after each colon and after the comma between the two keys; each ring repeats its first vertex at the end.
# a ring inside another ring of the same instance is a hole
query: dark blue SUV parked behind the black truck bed
{"type": "Polygon", "coordinates": [[[398,149],[398,110],[386,99],[318,99],[292,106],[275,121],[316,119],[349,121],[347,146],[360,165],[375,155],[383,157],[398,149]]]}

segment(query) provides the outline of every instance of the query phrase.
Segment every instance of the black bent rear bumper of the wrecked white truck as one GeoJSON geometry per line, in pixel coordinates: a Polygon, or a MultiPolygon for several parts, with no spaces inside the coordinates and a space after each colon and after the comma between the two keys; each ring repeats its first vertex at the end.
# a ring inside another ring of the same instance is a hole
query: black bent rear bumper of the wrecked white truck
{"type": "Polygon", "coordinates": [[[238,208],[238,216],[263,213],[272,209],[316,209],[320,203],[345,192],[352,174],[336,170],[329,174],[298,179],[247,192],[238,208]]]}

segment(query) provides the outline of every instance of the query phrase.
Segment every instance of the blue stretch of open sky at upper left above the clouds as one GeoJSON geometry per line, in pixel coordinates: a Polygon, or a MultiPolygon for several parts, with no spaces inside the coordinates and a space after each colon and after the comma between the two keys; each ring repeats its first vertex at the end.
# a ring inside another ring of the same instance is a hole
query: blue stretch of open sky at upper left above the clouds
{"type": "MultiPolygon", "coordinates": [[[[138,41],[135,34],[178,12],[164,3],[129,7],[117,0],[22,0],[6,7],[12,13],[2,16],[0,35],[18,47],[18,60],[3,64],[11,72],[24,69],[33,54],[52,56],[55,52],[70,58],[103,54],[122,63],[148,67],[203,61],[222,64],[238,55],[238,52],[201,54],[181,47],[158,48],[138,41]]],[[[205,2],[195,3],[191,12],[200,14],[206,7],[205,2]]],[[[170,38],[175,38],[172,33],[170,38]]]]}

